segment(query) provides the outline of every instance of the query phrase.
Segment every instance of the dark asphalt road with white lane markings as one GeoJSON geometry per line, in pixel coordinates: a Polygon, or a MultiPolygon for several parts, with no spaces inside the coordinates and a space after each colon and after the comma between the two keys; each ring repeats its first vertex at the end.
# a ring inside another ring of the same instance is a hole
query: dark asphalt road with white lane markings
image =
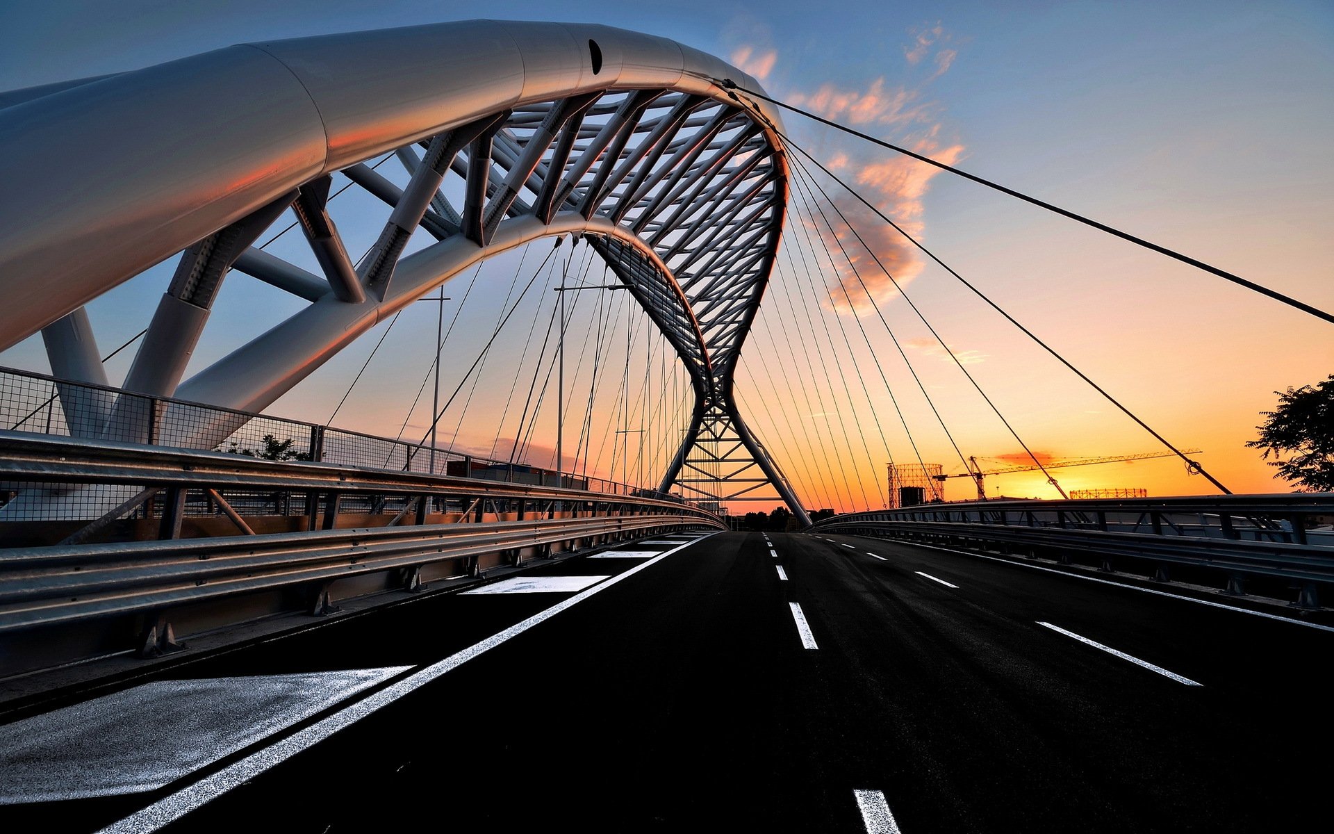
{"type": "Polygon", "coordinates": [[[0,829],[1329,825],[1329,627],[839,535],[640,542],[475,588],[506,590],[0,726],[0,829]]]}

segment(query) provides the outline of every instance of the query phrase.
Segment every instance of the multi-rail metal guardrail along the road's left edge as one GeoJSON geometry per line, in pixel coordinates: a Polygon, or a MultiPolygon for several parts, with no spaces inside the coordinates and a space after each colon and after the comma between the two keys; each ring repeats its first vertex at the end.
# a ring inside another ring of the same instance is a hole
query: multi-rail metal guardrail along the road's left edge
{"type": "MultiPolygon", "coordinates": [[[[51,651],[65,655],[24,661],[39,667],[95,655],[91,647],[105,643],[88,638],[67,651],[69,627],[85,638],[109,630],[115,646],[153,654],[175,645],[171,622],[197,631],[219,618],[321,612],[334,598],[416,590],[427,579],[644,534],[724,527],[676,500],[13,431],[0,431],[0,490],[17,496],[11,504],[69,495],[115,504],[92,520],[0,512],[0,635],[24,630],[40,647],[41,634],[67,630],[51,641],[51,651]],[[108,498],[108,490],[119,492],[108,498]],[[16,546],[31,528],[64,540],[16,546]],[[132,540],[89,543],[108,536],[132,540]],[[263,596],[275,592],[281,599],[263,596]],[[219,614],[224,596],[249,602],[228,602],[219,614]]],[[[4,655],[0,674],[23,667],[7,666],[4,655]]]]}

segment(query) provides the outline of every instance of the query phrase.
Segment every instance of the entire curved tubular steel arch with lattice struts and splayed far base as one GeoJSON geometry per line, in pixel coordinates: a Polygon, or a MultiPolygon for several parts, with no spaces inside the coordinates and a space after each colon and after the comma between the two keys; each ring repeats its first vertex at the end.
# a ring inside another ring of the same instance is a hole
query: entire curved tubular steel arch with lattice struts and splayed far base
{"type": "Polygon", "coordinates": [[[183,252],[124,387],[257,411],[470,263],[580,235],[694,382],[663,490],[722,502],[770,483],[806,520],[731,395],[787,167],[778,113],[742,107],[723,79],[759,88],[660,37],[482,20],[237,45],[0,93],[0,348],[41,330],[57,374],[101,382],[81,306],[183,252]],[[412,172],[406,188],[363,164],[387,152],[412,172]],[[334,172],[390,207],[356,266],[325,211],[334,172]],[[462,199],[442,188],[451,176],[462,199]],[[323,275],[251,247],[288,208],[323,275]],[[403,256],[415,232],[436,243],[403,256]],[[183,382],[229,270],[311,304],[183,382]]]}

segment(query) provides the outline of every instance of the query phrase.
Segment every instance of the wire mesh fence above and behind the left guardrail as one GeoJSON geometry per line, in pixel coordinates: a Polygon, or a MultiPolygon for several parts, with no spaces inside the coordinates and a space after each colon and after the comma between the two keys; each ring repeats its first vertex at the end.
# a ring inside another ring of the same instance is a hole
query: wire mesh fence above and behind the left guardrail
{"type": "Polygon", "coordinates": [[[144,396],[13,368],[0,368],[0,430],[680,500],[587,472],[555,472],[447,447],[432,450],[430,444],[335,426],[144,396]]]}

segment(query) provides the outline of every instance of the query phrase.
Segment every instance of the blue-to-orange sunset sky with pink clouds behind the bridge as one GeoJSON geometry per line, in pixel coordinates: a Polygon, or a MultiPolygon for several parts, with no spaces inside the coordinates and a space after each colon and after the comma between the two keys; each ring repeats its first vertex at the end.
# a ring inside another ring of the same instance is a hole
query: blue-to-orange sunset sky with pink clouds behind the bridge
{"type": "MultiPolygon", "coordinates": [[[[133,69],[233,43],[466,19],[478,8],[383,0],[11,3],[0,8],[7,41],[0,89],[133,69]]],[[[780,100],[1334,310],[1329,3],[880,1],[842,3],[838,13],[808,3],[490,3],[484,15],[604,23],[672,37],[739,65],[780,100]]],[[[1331,326],[795,113],[784,119],[794,143],[1146,423],[1178,447],[1203,450],[1201,463],[1229,488],[1291,488],[1243,443],[1277,402],[1275,390],[1334,372],[1331,326]]],[[[1030,460],[1025,447],[1043,462],[1162,448],[831,180],[795,180],[788,232],[743,350],[738,392],[747,420],[808,507],[882,506],[891,459],[958,474],[967,456],[984,470],[1023,464],[1030,460]]],[[[340,200],[350,250],[374,239],[383,212],[354,192],[340,200]]],[[[271,251],[297,260],[301,246],[283,239],[271,251]]],[[[542,383],[534,376],[540,363],[531,339],[543,339],[555,294],[526,296],[524,316],[516,315],[523,324],[488,354],[483,384],[470,391],[478,378],[462,374],[491,335],[511,286],[522,288],[518,276],[526,282],[546,248],[498,258],[479,275],[444,364],[444,394],[460,379],[462,386],[459,404],[451,406],[458,414],[447,412],[440,424],[442,442],[478,454],[500,450],[504,458],[506,446],[523,434],[514,415],[527,390],[540,391],[542,383]],[[528,326],[534,335],[524,339],[528,326]]],[[[563,268],[582,268],[580,256],[563,268]]],[[[562,268],[559,259],[552,264],[562,268]]],[[[588,268],[596,274],[596,264],[588,268]]],[[[147,323],[168,278],[169,267],[156,267],[89,306],[104,352],[147,323]]],[[[539,278],[546,287],[559,275],[539,278]]],[[[462,298],[467,279],[451,282],[451,299],[462,298]]],[[[635,322],[623,308],[599,312],[592,298],[580,304],[567,344],[590,328],[611,343],[635,322]]],[[[192,368],[297,308],[257,282],[229,278],[192,368]]],[[[452,311],[447,307],[447,323],[452,311]]],[[[422,406],[408,410],[428,376],[435,326],[432,304],[410,308],[351,394],[384,327],[269,412],[325,422],[347,394],[335,424],[392,436],[407,422],[404,431],[419,439],[430,418],[422,406]]],[[[683,410],[678,399],[655,402],[682,380],[644,334],[632,340],[630,363],[630,399],[639,406],[627,408],[623,394],[618,400],[619,378],[604,380],[592,398],[594,439],[582,464],[572,460],[568,438],[583,418],[567,416],[567,467],[610,474],[626,466],[631,479],[638,467],[648,482],[670,455],[663,438],[679,431],[683,410]],[[643,384],[646,366],[652,371],[643,384]],[[640,386],[647,395],[636,395],[640,386]],[[656,442],[640,450],[640,436],[656,442]]],[[[584,350],[576,388],[591,379],[594,348],[584,350]]],[[[128,367],[125,356],[108,363],[113,380],[128,367]]],[[[615,362],[624,363],[624,348],[615,362]]],[[[40,339],[0,354],[0,364],[45,371],[40,339]]],[[[588,391],[571,398],[587,399],[588,391]]],[[[552,455],[555,407],[543,408],[540,420],[552,419],[534,428],[524,448],[535,464],[552,455]]],[[[1051,474],[1067,491],[1214,491],[1174,459],[1051,474]]],[[[947,484],[951,499],[974,492],[966,478],[947,484]]],[[[1041,472],[988,478],[987,492],[1054,496],[1041,472]]],[[[734,510],[746,508],[768,504],[734,510]]]]}

